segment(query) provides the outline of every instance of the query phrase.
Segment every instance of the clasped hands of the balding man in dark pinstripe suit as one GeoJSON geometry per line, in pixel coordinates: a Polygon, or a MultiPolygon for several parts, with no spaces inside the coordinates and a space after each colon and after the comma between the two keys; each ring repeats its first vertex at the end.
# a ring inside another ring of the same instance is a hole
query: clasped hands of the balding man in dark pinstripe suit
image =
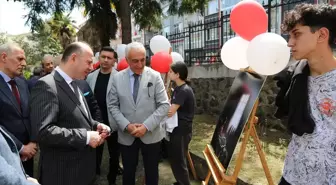
{"type": "Polygon", "coordinates": [[[90,133],[89,146],[97,148],[104,143],[108,136],[110,136],[111,129],[107,125],[100,123],[97,125],[97,131],[88,131],[88,133],[90,133]]]}

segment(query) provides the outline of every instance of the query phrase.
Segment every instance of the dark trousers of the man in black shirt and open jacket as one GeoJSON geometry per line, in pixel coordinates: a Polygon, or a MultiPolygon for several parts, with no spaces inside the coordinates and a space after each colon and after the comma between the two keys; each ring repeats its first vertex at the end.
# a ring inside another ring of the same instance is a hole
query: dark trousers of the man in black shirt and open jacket
{"type": "MultiPolygon", "coordinates": [[[[108,138],[106,138],[107,147],[110,155],[109,159],[109,173],[107,175],[107,180],[110,184],[115,183],[118,168],[119,168],[119,156],[120,156],[120,146],[118,143],[118,132],[113,132],[108,138]]],[[[100,165],[102,161],[104,151],[104,145],[101,145],[97,148],[97,155],[96,155],[96,173],[100,174],[100,165]]]]}

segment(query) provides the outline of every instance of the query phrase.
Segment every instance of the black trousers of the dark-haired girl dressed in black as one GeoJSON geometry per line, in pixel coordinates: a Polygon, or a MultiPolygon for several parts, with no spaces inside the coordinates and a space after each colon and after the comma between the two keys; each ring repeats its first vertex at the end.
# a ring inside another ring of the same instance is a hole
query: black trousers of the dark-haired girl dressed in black
{"type": "Polygon", "coordinates": [[[187,164],[188,146],[191,133],[172,133],[168,144],[168,158],[176,182],[180,185],[190,185],[187,164]]]}

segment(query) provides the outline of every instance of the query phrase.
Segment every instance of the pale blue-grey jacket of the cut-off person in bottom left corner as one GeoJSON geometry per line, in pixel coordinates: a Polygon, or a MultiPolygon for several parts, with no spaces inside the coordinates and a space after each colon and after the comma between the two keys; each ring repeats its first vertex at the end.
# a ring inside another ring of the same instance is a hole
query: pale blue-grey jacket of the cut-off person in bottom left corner
{"type": "MultiPolygon", "coordinates": [[[[0,127],[0,184],[34,185],[27,181],[14,140],[0,127]]],[[[35,184],[36,185],[36,184],[35,184]]]]}

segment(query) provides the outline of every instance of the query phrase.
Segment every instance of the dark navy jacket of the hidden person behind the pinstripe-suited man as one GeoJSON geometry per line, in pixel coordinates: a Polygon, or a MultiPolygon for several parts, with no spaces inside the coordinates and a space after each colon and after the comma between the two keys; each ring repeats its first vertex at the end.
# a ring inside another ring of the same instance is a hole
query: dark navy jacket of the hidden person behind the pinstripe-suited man
{"type": "Polygon", "coordinates": [[[96,97],[94,96],[89,84],[85,80],[77,80],[77,84],[86,99],[90,113],[92,115],[92,119],[102,123],[103,117],[101,115],[96,97]]]}

